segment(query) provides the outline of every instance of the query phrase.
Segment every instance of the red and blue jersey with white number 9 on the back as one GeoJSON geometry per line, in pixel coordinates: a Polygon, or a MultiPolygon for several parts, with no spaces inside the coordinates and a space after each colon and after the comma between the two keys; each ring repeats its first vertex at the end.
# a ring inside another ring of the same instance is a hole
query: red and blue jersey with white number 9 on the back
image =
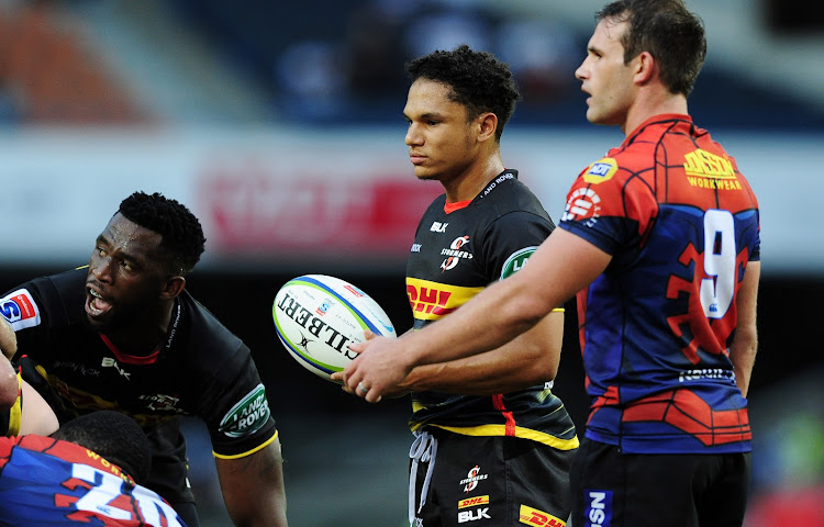
{"type": "Polygon", "coordinates": [[[657,115],[581,172],[559,226],[612,256],[578,293],[586,436],[625,452],[749,451],[728,346],[759,214],[735,159],[688,115],[657,115]]]}

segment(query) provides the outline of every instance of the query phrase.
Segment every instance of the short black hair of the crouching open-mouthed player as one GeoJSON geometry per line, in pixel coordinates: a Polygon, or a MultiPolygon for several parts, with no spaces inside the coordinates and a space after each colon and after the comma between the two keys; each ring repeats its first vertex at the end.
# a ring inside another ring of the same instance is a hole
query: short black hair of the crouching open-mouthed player
{"type": "Polygon", "coordinates": [[[180,202],[155,192],[134,192],[120,203],[123,217],[160,235],[160,248],[171,257],[172,273],[186,276],[205,248],[203,227],[180,202]]]}

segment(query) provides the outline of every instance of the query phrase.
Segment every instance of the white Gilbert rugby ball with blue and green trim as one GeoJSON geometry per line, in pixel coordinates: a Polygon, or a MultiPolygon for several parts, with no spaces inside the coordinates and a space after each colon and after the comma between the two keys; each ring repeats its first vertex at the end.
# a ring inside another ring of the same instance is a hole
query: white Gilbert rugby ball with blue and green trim
{"type": "Polygon", "coordinates": [[[348,346],[363,343],[366,329],[397,336],[389,316],[371,296],[325,274],[286,282],[275,295],[271,316],[278,338],[294,360],[327,381],[357,356],[348,346]]]}

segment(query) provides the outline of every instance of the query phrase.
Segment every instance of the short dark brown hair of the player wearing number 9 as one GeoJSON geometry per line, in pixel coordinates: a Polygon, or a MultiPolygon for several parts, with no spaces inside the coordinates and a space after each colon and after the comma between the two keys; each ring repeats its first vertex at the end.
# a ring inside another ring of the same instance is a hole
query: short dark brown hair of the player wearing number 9
{"type": "Polygon", "coordinates": [[[622,40],[624,63],[649,52],[670,92],[692,92],[706,57],[706,36],[703,21],[682,0],[620,0],[595,14],[597,21],[604,19],[628,23],[622,40]]]}

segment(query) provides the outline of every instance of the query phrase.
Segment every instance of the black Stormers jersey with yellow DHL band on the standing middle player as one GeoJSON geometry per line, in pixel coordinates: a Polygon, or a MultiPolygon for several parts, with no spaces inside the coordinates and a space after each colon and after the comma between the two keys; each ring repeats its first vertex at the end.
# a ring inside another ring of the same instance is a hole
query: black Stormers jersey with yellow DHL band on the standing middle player
{"type": "MultiPolygon", "coordinates": [[[[448,214],[445,194],[426,210],[407,266],[415,329],[517,271],[553,231],[538,199],[516,178],[516,170],[504,170],[467,206],[448,214]]],[[[472,436],[523,437],[564,450],[578,446],[563,402],[544,384],[492,396],[414,392],[412,410],[412,430],[436,426],[472,436]]]]}

